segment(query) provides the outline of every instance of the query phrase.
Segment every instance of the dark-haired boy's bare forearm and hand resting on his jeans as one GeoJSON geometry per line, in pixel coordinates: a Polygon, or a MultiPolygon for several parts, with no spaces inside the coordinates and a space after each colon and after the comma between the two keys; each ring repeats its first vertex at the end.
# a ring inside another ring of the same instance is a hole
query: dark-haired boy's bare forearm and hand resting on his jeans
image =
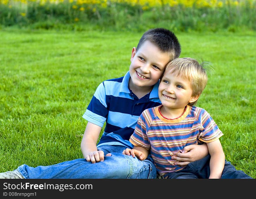
{"type": "Polygon", "coordinates": [[[83,157],[88,162],[99,162],[104,161],[104,152],[97,150],[97,141],[102,127],[87,122],[85,132],[81,141],[81,151],[83,157]]]}

